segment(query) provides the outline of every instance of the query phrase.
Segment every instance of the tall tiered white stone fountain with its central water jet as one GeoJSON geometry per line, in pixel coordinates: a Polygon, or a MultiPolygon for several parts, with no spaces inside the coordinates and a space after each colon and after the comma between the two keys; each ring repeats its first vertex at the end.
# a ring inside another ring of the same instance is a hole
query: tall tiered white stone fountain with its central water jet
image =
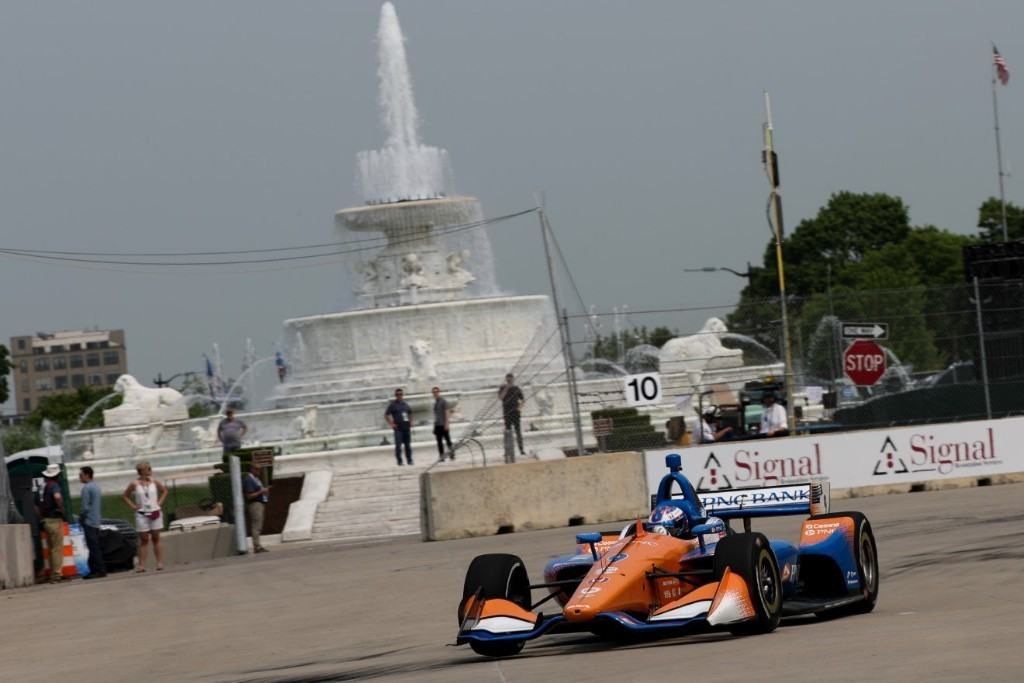
{"type": "MultiPolygon", "coordinates": [[[[278,408],[382,401],[395,387],[429,395],[441,384],[490,389],[539,331],[553,330],[545,296],[498,296],[482,211],[452,191],[447,153],[423,144],[404,40],[394,6],[378,32],[381,150],[358,155],[366,204],[339,211],[342,236],[381,233],[385,245],[357,264],[361,307],[285,322],[291,372],[278,408]]],[[[545,367],[547,356],[534,368],[545,367]]],[[[520,372],[530,368],[520,369],[520,372]]],[[[540,372],[540,371],[538,371],[540,372]]],[[[353,414],[348,429],[379,426],[353,414]]]]}

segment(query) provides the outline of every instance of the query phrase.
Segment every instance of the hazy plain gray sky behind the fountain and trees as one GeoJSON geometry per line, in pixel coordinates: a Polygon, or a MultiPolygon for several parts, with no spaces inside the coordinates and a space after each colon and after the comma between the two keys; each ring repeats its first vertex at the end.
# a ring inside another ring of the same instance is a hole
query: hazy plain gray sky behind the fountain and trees
{"type": "MultiPolygon", "coordinates": [[[[729,306],[768,238],[762,90],[787,225],[840,189],[974,230],[1005,158],[1024,167],[1024,3],[407,0],[425,142],[487,215],[547,194],[588,304],[729,306]],[[772,11],[766,11],[771,7],[772,11]]],[[[383,141],[380,3],[8,2],[0,14],[0,246],[202,251],[327,242],[383,141]]],[[[1021,202],[1011,177],[1007,196],[1021,202]]],[[[499,282],[545,293],[534,218],[492,239],[499,282]]],[[[124,328],[148,383],[219,342],[269,354],[281,322],[347,307],[344,265],[122,271],[0,259],[0,335],[124,328]]],[[[727,308],[723,308],[725,312],[727,308]]],[[[683,319],[696,329],[706,313],[683,319]]],[[[653,318],[637,324],[656,323],[653,318]]],[[[676,323],[679,324],[679,323],[676,323]]],[[[684,329],[684,332],[688,331],[684,329]]]]}

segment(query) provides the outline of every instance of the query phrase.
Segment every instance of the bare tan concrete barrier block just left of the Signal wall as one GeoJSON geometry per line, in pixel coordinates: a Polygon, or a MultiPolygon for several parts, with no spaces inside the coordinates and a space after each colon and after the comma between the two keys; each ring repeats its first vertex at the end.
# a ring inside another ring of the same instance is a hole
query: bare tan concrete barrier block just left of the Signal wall
{"type": "Polygon", "coordinates": [[[431,470],[420,498],[424,541],[617,521],[649,507],[640,453],[431,470]]]}

